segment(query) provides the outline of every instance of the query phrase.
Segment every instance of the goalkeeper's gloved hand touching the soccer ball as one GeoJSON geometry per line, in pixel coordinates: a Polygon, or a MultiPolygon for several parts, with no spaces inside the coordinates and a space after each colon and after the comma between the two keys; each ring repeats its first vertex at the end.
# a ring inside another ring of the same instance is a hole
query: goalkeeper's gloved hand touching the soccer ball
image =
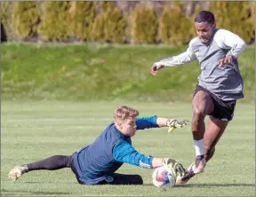
{"type": "Polygon", "coordinates": [[[187,170],[184,169],[183,165],[180,162],[177,162],[171,158],[164,158],[163,165],[170,173],[173,173],[175,177],[183,177],[187,174],[187,170]]]}

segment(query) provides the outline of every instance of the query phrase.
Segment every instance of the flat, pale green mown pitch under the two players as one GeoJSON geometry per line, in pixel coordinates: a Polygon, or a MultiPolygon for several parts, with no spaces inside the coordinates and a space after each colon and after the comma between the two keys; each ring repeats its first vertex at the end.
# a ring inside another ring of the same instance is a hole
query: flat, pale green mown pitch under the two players
{"type": "MultiPolygon", "coordinates": [[[[254,106],[238,102],[205,172],[188,185],[156,188],[153,169],[124,164],[119,173],[138,173],[144,185],[79,185],[70,169],[34,171],[17,182],[7,179],[12,167],[36,162],[54,154],[72,154],[88,145],[111,122],[119,105],[140,110],[140,116],[157,114],[191,119],[188,104],[139,102],[12,102],[2,103],[1,194],[2,196],[254,196],[254,106]]],[[[185,166],[194,160],[190,127],[168,134],[167,130],[140,130],[132,139],[143,154],[173,157],[185,166]]]]}

